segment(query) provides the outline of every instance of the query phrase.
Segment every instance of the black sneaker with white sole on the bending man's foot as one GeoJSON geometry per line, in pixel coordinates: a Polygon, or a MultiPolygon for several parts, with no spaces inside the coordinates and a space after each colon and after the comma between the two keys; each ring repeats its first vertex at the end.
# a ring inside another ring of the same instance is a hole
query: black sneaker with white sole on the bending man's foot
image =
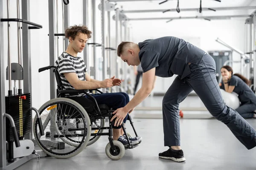
{"type": "Polygon", "coordinates": [[[179,150],[177,152],[173,152],[171,148],[169,150],[164,151],[163,153],[158,154],[159,158],[163,159],[171,159],[176,162],[183,162],[186,161],[184,158],[184,154],[182,150],[179,150]]]}

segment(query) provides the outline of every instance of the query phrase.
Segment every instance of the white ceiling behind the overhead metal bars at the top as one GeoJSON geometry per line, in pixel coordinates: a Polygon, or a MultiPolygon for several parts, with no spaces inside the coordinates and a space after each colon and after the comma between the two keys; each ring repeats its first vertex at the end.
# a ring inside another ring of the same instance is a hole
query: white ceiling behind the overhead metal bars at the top
{"type": "MultiPolygon", "coordinates": [[[[111,0],[110,0],[111,1],[111,0]]],[[[113,1],[113,0],[112,0],[113,1]]],[[[118,1],[118,0],[117,0],[118,1]]],[[[122,7],[122,10],[153,10],[153,9],[176,9],[177,0],[168,0],[166,3],[160,4],[164,0],[127,0],[126,2],[118,1],[116,7],[122,7]]],[[[250,6],[256,0],[202,0],[202,8],[214,7],[236,7],[250,6]]],[[[256,5],[255,5],[256,6],[256,5]]],[[[200,0],[179,0],[180,13],[174,12],[148,12],[148,13],[125,13],[128,18],[147,18],[147,17],[186,17],[186,16],[221,16],[221,15],[240,15],[250,14],[253,10],[217,10],[217,11],[182,11],[182,8],[199,8],[200,0]]]]}

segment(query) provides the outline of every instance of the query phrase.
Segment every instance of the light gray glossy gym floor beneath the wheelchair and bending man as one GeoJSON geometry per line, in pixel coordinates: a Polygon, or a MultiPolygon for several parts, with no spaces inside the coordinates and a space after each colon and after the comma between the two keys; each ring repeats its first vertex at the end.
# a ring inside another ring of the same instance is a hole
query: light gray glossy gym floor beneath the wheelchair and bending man
{"type": "MultiPolygon", "coordinates": [[[[148,99],[148,106],[159,106],[161,97],[148,99]]],[[[184,107],[202,107],[192,97],[183,102],[184,107]]],[[[161,105],[160,105],[161,106],[161,105]]],[[[161,114],[160,111],[156,112],[161,114]]],[[[185,112],[186,113],[186,112],[185,112]]],[[[184,114],[185,114],[184,113],[184,114]]],[[[136,114],[136,113],[134,113],[136,114]]],[[[205,113],[207,114],[207,113],[205,113]]],[[[133,119],[137,133],[143,136],[139,147],[125,150],[118,161],[105,154],[108,138],[102,136],[95,144],[86,147],[70,159],[41,158],[26,162],[16,170],[255,170],[256,148],[247,150],[223,123],[216,119],[180,119],[181,147],[185,162],[177,163],[158,158],[158,153],[167,150],[163,146],[162,119],[133,119]]],[[[256,128],[256,119],[247,119],[256,128]]],[[[127,124],[128,132],[132,129],[127,124]]]]}

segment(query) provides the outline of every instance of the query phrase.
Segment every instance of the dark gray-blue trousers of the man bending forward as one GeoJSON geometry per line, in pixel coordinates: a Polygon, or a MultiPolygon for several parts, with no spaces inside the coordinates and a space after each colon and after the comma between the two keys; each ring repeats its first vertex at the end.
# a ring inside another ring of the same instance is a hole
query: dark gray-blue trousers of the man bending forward
{"type": "Polygon", "coordinates": [[[176,77],[163,97],[164,145],[180,146],[179,103],[194,90],[212,116],[227,125],[247,149],[255,147],[256,131],[222,99],[214,59],[205,54],[199,65],[190,64],[189,68],[191,74],[184,79],[176,77]]]}

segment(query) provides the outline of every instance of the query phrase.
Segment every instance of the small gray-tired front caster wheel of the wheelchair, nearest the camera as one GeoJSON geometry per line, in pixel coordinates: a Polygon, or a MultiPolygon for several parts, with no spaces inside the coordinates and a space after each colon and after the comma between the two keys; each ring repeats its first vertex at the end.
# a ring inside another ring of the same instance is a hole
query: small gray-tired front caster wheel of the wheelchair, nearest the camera
{"type": "Polygon", "coordinates": [[[105,153],[109,159],[119,160],[125,155],[125,147],[119,141],[113,141],[114,147],[111,147],[111,144],[108,143],[105,148],[105,153]]]}

